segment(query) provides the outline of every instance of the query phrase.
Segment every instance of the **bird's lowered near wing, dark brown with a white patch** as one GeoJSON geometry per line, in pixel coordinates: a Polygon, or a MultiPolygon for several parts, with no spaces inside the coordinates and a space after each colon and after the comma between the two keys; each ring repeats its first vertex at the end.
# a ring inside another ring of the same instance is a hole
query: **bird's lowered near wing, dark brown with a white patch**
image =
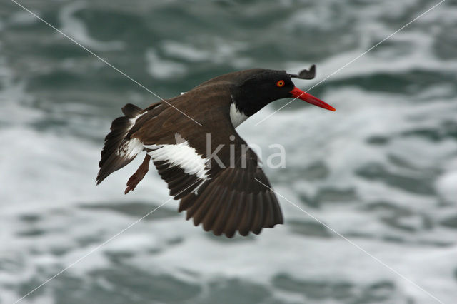
{"type": "Polygon", "coordinates": [[[208,133],[201,130],[189,137],[176,133],[174,144],[148,145],[146,138],[140,138],[171,196],[181,199],[179,211],[187,211],[187,219],[193,218],[195,226],[203,223],[204,230],[229,238],[236,231],[258,234],[262,228],[283,223],[256,153],[233,127],[230,130],[226,139],[209,133],[214,138],[211,143],[208,133]],[[208,144],[213,151],[206,151],[208,144]]]}

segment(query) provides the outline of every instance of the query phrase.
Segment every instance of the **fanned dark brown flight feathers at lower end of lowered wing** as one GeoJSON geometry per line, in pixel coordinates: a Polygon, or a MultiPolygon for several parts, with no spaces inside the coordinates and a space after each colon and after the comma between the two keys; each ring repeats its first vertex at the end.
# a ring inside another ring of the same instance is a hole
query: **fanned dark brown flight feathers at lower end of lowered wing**
{"type": "Polygon", "coordinates": [[[194,218],[195,226],[203,223],[204,230],[229,238],[237,230],[241,235],[259,234],[262,228],[283,223],[275,194],[263,186],[270,187],[270,183],[258,168],[256,154],[248,150],[246,157],[245,168],[224,168],[206,181],[198,194],[186,194],[179,211],[186,210],[187,219],[194,218]]]}

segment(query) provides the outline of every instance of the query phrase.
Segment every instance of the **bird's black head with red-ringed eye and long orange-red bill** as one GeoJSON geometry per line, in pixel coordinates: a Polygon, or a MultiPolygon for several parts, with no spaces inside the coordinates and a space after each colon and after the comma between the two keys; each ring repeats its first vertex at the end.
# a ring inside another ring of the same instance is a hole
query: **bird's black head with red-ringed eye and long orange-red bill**
{"type": "Polygon", "coordinates": [[[316,75],[314,65],[299,74],[268,69],[252,69],[243,72],[244,74],[238,78],[232,97],[238,110],[247,116],[253,115],[268,103],[281,98],[298,98],[314,106],[335,111],[335,108],[321,99],[301,91],[292,82],[292,78],[313,79],[316,75]]]}

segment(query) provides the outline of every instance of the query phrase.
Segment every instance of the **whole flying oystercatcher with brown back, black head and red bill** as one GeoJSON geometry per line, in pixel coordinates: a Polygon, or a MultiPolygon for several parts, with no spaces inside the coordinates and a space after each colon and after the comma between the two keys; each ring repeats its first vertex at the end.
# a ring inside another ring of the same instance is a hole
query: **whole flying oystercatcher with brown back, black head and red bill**
{"type": "Polygon", "coordinates": [[[205,231],[232,238],[283,224],[278,199],[261,160],[236,132],[247,118],[281,98],[335,108],[297,88],[292,78],[312,79],[316,65],[298,74],[248,69],[211,78],[179,96],[141,109],[131,103],[114,119],[104,140],[97,185],[141,152],[144,161],[126,183],[133,191],[152,160],[179,212],[205,231]],[[210,146],[210,148],[209,148],[210,146]]]}

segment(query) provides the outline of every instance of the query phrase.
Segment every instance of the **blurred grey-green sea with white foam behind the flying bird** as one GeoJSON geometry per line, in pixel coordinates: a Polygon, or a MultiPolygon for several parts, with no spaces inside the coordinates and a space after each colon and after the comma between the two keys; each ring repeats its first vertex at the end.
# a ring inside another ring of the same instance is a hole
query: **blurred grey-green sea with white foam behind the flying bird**
{"type": "MultiPolygon", "coordinates": [[[[20,0],[164,98],[206,79],[317,64],[310,88],[438,1],[20,0]]],[[[238,128],[286,147],[273,187],[439,298],[457,300],[457,1],[311,93],[238,128]]],[[[0,4],[0,303],[13,303],[169,199],[141,159],[95,186],[125,103],[156,101],[12,1],[0,4]]],[[[198,101],[196,101],[198,102],[198,101]]],[[[141,157],[140,157],[141,158],[141,157]]],[[[279,198],[285,223],[214,237],[170,201],[20,303],[438,303],[279,198]]]]}

